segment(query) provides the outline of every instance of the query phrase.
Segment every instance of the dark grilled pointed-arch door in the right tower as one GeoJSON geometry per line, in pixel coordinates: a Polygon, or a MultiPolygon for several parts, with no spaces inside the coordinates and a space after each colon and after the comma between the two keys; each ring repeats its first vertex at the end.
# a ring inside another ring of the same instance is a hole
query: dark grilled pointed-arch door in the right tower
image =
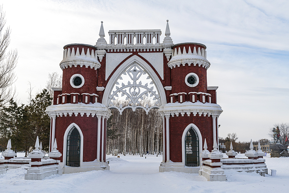
{"type": "Polygon", "coordinates": [[[185,137],[185,159],[186,166],[199,166],[199,137],[197,132],[191,127],[185,137]]]}

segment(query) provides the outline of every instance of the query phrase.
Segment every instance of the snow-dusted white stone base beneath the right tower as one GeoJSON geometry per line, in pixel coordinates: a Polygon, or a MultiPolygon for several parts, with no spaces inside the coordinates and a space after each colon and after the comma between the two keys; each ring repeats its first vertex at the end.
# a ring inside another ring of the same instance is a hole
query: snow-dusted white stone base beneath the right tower
{"type": "Polygon", "coordinates": [[[200,170],[200,166],[188,167],[183,162],[161,162],[159,171],[160,172],[184,172],[189,174],[197,174],[200,170]]]}

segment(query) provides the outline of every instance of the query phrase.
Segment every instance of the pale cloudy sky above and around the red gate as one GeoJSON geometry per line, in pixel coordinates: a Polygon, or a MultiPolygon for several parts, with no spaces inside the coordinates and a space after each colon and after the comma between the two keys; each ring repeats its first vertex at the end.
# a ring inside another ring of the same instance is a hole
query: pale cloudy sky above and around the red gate
{"type": "Polygon", "coordinates": [[[207,46],[208,86],[218,86],[219,136],[269,138],[289,122],[289,1],[7,1],[10,49],[18,50],[17,99],[27,103],[28,81],[45,88],[48,73],[62,73],[63,46],[95,45],[100,21],[109,30],[161,29],[169,19],[173,42],[207,46]]]}

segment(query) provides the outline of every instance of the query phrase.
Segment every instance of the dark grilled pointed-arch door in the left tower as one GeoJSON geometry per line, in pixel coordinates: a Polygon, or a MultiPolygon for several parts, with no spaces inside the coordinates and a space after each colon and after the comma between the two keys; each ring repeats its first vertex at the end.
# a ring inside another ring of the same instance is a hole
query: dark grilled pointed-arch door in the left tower
{"type": "Polygon", "coordinates": [[[75,126],[71,128],[67,136],[66,166],[80,166],[80,134],[75,126]]]}

